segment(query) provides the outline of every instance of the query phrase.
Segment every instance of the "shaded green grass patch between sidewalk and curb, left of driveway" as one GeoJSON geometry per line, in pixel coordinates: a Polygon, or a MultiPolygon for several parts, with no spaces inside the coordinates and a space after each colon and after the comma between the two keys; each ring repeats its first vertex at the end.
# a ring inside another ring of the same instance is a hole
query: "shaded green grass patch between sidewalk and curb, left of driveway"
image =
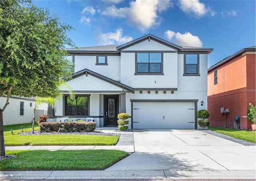
{"type": "Polygon", "coordinates": [[[129,153],[120,150],[16,150],[0,161],[0,170],[104,170],[129,153]]]}

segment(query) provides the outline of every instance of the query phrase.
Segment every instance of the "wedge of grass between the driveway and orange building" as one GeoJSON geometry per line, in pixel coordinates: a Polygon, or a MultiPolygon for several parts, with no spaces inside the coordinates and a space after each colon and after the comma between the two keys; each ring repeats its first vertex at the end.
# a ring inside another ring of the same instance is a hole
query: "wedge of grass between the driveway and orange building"
{"type": "Polygon", "coordinates": [[[218,126],[208,126],[208,130],[221,133],[233,138],[245,140],[247,142],[256,143],[256,133],[254,131],[235,130],[232,128],[223,128],[218,126]]]}

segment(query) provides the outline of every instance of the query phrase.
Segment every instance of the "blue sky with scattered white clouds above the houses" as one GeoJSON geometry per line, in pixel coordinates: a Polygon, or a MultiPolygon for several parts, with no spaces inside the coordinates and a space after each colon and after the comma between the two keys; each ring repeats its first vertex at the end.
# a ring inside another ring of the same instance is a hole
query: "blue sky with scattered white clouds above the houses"
{"type": "Polygon", "coordinates": [[[148,33],[214,48],[208,67],[256,43],[255,0],[34,0],[71,25],[77,47],[121,45],[148,33]]]}

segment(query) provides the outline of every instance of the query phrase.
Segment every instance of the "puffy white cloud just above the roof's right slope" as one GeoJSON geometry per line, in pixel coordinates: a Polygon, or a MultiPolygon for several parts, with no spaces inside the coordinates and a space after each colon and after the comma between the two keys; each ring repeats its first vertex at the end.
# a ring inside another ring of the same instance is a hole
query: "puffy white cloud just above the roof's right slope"
{"type": "Polygon", "coordinates": [[[167,39],[171,40],[173,37],[174,43],[177,45],[191,46],[191,47],[202,47],[203,43],[198,36],[192,35],[190,32],[184,34],[175,33],[174,31],[167,30],[164,32],[167,39]]]}

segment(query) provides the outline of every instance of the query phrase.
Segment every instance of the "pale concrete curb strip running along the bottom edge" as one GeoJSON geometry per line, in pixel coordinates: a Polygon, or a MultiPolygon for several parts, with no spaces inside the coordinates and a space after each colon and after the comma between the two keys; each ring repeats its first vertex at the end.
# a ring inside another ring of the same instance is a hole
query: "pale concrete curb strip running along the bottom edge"
{"type": "Polygon", "coordinates": [[[4,179],[255,179],[242,170],[0,171],[4,179]]]}

